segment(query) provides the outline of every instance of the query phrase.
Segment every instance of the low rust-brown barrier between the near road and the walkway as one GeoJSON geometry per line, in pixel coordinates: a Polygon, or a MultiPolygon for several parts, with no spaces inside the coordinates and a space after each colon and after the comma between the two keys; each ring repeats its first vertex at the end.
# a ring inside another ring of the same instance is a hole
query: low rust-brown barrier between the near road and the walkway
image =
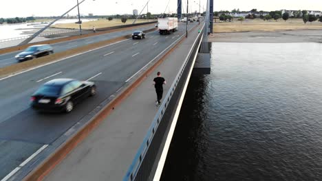
{"type": "MultiPolygon", "coordinates": [[[[194,28],[193,28],[194,29],[194,28]]],[[[193,30],[191,29],[191,31],[193,30]]],[[[175,50],[180,43],[182,43],[183,38],[178,40],[177,43],[173,44],[173,46],[164,54],[160,55],[158,60],[155,62],[151,62],[147,70],[136,75],[132,81],[127,82],[125,86],[123,86],[113,100],[109,102],[109,104],[105,105],[91,120],[89,120],[83,127],[69,137],[65,143],[63,143],[54,153],[52,153],[48,158],[46,158],[41,165],[37,166],[32,172],[25,177],[24,181],[34,181],[34,180],[43,180],[43,178],[56,167],[56,165],[61,162],[69,154],[69,152],[74,149],[81,143],[89,134],[92,132],[96,126],[98,126],[113,110],[118,106],[124,99],[126,99],[133,90],[136,89],[148,75],[153,73],[153,71],[167,58],[167,56],[175,50]]]]}

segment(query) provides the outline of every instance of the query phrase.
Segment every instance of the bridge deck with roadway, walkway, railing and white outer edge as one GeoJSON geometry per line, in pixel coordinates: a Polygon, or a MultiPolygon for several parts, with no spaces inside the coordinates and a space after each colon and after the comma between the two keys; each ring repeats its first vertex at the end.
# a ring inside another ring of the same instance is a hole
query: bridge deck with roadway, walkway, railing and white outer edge
{"type": "MultiPolygon", "coordinates": [[[[186,25],[180,23],[169,36],[154,30],[143,40],[120,40],[2,77],[1,181],[158,180],[193,67],[195,72],[209,68],[202,62],[206,52],[198,53],[208,44],[204,27],[189,23],[186,38],[186,25]],[[157,71],[168,82],[158,107],[152,86],[157,71]],[[60,77],[96,82],[97,95],[70,114],[31,110],[36,88],[60,77]]],[[[101,34],[53,46],[64,51],[113,37],[101,34]]],[[[0,60],[10,61],[13,54],[0,60]]]]}

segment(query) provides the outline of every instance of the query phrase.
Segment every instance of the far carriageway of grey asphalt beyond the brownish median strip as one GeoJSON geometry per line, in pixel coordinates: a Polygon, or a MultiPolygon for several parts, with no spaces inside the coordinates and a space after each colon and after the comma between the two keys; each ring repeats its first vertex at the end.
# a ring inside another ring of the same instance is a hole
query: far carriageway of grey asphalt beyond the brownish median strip
{"type": "MultiPolygon", "coordinates": [[[[147,29],[151,29],[155,27],[154,25],[148,25],[148,26],[144,26],[144,27],[140,27],[139,29],[147,30],[147,29]]],[[[125,36],[128,34],[131,34],[135,29],[129,29],[129,30],[125,30],[125,31],[120,31],[120,32],[111,32],[108,34],[101,34],[98,36],[91,36],[91,37],[87,37],[87,38],[80,38],[80,39],[76,39],[76,40],[69,40],[63,43],[55,43],[52,44],[52,47],[54,48],[54,52],[58,53],[61,51],[66,51],[68,49],[74,49],[76,47],[82,47],[84,45],[88,45],[91,43],[97,43],[103,40],[110,40],[113,38],[117,38],[120,36],[125,36]]],[[[11,53],[6,53],[6,54],[2,54],[0,55],[0,68],[1,67],[6,67],[9,66],[10,64],[16,64],[17,60],[14,58],[14,56],[16,56],[18,53],[20,53],[21,51],[14,51],[11,53]]]]}

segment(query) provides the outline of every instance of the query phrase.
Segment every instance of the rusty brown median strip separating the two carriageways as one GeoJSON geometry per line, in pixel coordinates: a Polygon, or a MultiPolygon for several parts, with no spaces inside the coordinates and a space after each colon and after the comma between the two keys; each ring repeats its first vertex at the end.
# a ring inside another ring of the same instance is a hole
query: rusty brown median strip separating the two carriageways
{"type": "MultiPolygon", "coordinates": [[[[152,28],[152,29],[148,29],[147,31],[144,31],[144,32],[153,32],[155,30],[156,30],[156,28],[152,28]]],[[[50,56],[44,56],[41,58],[36,58],[34,60],[28,60],[28,61],[17,63],[17,64],[12,64],[8,67],[2,67],[2,68],[0,68],[0,77],[14,75],[14,74],[20,73],[21,71],[33,69],[34,67],[39,67],[39,66],[43,66],[44,64],[49,64],[52,62],[64,60],[70,56],[76,55],[78,53],[82,53],[83,51],[88,51],[90,49],[96,49],[99,47],[103,47],[105,45],[108,45],[111,43],[116,43],[120,40],[125,40],[127,38],[131,38],[131,35],[129,34],[126,36],[120,36],[118,38],[113,38],[111,40],[104,40],[104,41],[101,41],[98,43],[92,43],[89,45],[85,45],[83,47],[77,47],[74,49],[69,49],[67,51],[54,53],[54,54],[51,54],[50,56]]]]}

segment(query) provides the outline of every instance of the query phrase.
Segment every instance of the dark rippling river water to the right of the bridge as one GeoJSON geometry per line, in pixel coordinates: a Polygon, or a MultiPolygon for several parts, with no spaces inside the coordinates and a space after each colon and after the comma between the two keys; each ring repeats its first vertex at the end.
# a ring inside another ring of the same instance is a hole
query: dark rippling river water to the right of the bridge
{"type": "Polygon", "coordinates": [[[322,180],[322,44],[213,43],[161,180],[322,180]]]}

